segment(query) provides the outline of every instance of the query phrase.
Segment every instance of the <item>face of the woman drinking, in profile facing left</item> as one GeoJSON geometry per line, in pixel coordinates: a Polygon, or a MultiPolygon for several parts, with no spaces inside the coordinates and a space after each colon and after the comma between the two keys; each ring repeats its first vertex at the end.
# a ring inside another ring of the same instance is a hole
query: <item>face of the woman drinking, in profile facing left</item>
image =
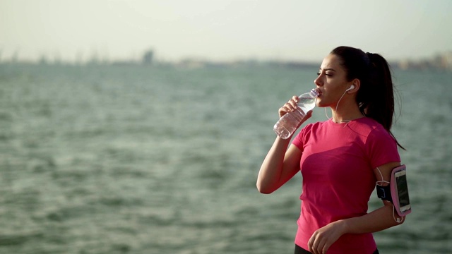
{"type": "Polygon", "coordinates": [[[340,65],[340,59],[334,54],[329,54],[323,59],[319,76],[314,80],[321,95],[317,98],[317,107],[335,107],[345,90],[350,88],[352,82],[348,82],[345,69],[340,65]]]}

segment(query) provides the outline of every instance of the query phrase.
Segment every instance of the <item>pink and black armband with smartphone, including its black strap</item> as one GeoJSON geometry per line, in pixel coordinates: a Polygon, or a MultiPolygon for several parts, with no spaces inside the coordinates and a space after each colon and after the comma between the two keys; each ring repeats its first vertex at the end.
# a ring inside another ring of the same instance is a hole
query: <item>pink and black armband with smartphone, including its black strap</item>
{"type": "Polygon", "coordinates": [[[409,214],[411,205],[405,165],[396,167],[391,171],[391,181],[388,186],[376,185],[376,194],[381,200],[392,202],[400,217],[409,214]]]}

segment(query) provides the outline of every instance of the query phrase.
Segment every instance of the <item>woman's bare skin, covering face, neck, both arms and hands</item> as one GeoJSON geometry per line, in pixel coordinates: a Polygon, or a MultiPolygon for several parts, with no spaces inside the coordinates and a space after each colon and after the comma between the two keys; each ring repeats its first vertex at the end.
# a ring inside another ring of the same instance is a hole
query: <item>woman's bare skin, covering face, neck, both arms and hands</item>
{"type": "MultiPolygon", "coordinates": [[[[345,76],[345,69],[340,65],[338,56],[330,54],[323,59],[319,76],[314,80],[317,90],[321,92],[316,99],[317,106],[330,107],[333,121],[336,123],[364,117],[355,101],[361,84],[358,79],[348,81],[345,76]],[[352,85],[355,88],[345,91],[352,85]],[[340,99],[341,97],[342,99],[340,99]]],[[[293,96],[283,107],[280,107],[278,111],[280,117],[294,111],[297,108],[297,102],[298,97],[293,96]]],[[[311,111],[304,117],[302,123],[310,117],[311,111]]],[[[289,146],[289,144],[290,138],[283,140],[279,136],[276,137],[258,173],[256,186],[261,193],[273,193],[299,172],[302,150],[295,145],[289,146]]],[[[374,169],[377,181],[390,181],[392,169],[399,165],[400,162],[391,162],[379,166],[381,175],[377,169],[374,169]]],[[[392,203],[383,201],[383,206],[373,212],[361,217],[341,219],[315,231],[308,242],[309,251],[314,254],[326,253],[328,248],[343,234],[373,233],[401,224],[394,218],[400,217],[394,212],[392,203]]]]}

